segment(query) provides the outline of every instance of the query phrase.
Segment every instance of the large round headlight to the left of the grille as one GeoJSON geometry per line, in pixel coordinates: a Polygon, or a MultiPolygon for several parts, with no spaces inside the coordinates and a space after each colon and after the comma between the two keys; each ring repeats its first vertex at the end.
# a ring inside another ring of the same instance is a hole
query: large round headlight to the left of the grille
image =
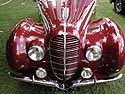
{"type": "Polygon", "coordinates": [[[40,61],[44,58],[44,50],[40,46],[32,46],[29,48],[28,56],[33,61],[40,61]]]}

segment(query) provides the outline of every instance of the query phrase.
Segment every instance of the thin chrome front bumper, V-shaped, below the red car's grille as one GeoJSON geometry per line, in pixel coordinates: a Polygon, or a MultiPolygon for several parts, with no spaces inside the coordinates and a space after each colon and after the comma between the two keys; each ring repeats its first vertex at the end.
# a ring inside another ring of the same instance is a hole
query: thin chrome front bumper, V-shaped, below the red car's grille
{"type": "MultiPolygon", "coordinates": [[[[19,77],[16,76],[12,73],[9,73],[14,79],[17,80],[21,80],[24,82],[29,82],[29,83],[35,83],[35,84],[39,84],[39,85],[44,85],[44,86],[50,86],[50,87],[56,87],[59,88],[61,90],[65,90],[65,85],[59,83],[58,81],[52,80],[52,81],[46,81],[46,80],[36,80],[35,77],[33,76],[32,79],[29,77],[19,77]]],[[[120,78],[122,78],[123,74],[119,74],[115,77],[112,77],[110,79],[101,79],[101,80],[97,80],[97,79],[91,79],[91,80],[77,80],[73,82],[73,85],[70,88],[75,88],[75,87],[80,87],[80,86],[84,86],[84,85],[90,85],[90,84],[96,84],[96,83],[104,83],[104,82],[110,82],[110,81],[115,81],[118,80],[120,78]]]]}

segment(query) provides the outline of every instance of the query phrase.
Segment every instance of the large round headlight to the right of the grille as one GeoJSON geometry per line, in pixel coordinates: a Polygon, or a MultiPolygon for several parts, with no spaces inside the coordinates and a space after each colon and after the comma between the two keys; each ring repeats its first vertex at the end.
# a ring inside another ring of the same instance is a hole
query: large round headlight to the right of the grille
{"type": "Polygon", "coordinates": [[[101,58],[102,56],[102,50],[99,46],[90,46],[86,50],[86,58],[89,61],[97,61],[101,58]]]}

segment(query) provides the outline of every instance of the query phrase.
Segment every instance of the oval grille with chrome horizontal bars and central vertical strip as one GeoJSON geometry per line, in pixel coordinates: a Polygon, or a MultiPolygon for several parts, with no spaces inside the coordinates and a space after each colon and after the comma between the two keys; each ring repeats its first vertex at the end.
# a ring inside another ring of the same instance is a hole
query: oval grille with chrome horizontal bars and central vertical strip
{"type": "Polygon", "coordinates": [[[63,81],[70,79],[77,71],[79,40],[75,36],[66,35],[65,46],[64,50],[64,35],[58,35],[50,40],[52,69],[55,76],[63,81]]]}

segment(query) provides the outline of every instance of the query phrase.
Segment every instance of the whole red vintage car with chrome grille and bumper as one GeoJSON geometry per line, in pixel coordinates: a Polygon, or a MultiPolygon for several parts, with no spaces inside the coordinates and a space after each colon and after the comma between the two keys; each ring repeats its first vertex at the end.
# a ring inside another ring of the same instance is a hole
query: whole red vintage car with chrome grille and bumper
{"type": "Polygon", "coordinates": [[[122,77],[125,38],[113,20],[91,20],[96,0],[37,3],[41,23],[23,19],[8,39],[12,77],[62,90],[122,77]]]}

